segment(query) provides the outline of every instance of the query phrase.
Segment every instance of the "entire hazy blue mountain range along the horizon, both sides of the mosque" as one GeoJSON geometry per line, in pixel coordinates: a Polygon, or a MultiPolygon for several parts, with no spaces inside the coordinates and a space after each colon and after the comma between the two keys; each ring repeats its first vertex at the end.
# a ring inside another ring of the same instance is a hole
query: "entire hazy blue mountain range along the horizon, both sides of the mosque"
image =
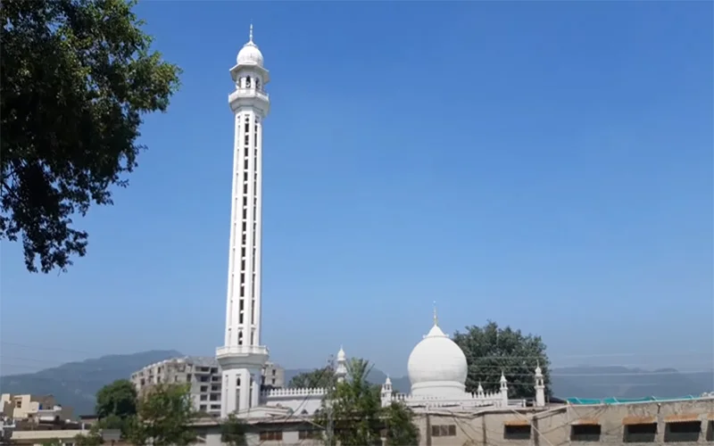
{"type": "MultiPolygon", "coordinates": [[[[110,355],[36,373],[0,376],[0,392],[54,395],[75,414],[91,414],[95,393],[105,384],[129,378],[132,373],[163,359],[181,357],[179,351],[142,351],[129,355],[110,355]]],[[[286,369],[286,383],[308,369],[286,369]]],[[[386,374],[373,368],[368,380],[384,383],[386,374]]],[[[409,392],[409,377],[392,377],[394,390],[409,392]]],[[[714,391],[714,369],[699,373],[680,373],[674,368],[643,370],[625,367],[583,366],[552,369],[553,394],[562,398],[641,398],[646,396],[678,397],[714,391]]]]}

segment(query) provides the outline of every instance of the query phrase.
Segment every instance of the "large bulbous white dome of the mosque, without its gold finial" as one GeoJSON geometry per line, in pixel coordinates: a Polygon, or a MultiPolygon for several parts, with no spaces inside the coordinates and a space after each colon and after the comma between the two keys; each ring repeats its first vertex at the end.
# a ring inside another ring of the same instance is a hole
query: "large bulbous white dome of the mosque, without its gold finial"
{"type": "Polygon", "coordinates": [[[464,392],[466,356],[436,323],[411,351],[407,368],[412,395],[446,398],[464,392]]]}

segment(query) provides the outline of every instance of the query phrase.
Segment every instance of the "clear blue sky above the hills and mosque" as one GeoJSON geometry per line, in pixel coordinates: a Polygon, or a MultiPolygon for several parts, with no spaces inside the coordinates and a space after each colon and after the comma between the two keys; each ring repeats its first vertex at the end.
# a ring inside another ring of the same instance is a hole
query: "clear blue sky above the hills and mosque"
{"type": "Polygon", "coordinates": [[[223,340],[233,125],[248,37],[270,70],[263,340],[406,371],[437,301],[543,335],[555,365],[703,368],[714,351],[710,2],[146,1],[183,70],[149,146],[30,275],[2,246],[3,373],[223,340]]]}

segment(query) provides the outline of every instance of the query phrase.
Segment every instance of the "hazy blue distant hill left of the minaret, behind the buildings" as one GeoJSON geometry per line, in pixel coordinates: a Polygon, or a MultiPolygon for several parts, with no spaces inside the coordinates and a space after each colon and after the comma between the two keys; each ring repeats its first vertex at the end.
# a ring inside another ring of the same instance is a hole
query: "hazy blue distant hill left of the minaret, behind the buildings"
{"type": "Polygon", "coordinates": [[[178,356],[184,355],[174,350],[142,351],[68,362],[36,373],[0,376],[0,392],[51,393],[62,406],[71,407],[75,416],[93,414],[95,394],[105,384],[128,379],[139,368],[178,356]]]}

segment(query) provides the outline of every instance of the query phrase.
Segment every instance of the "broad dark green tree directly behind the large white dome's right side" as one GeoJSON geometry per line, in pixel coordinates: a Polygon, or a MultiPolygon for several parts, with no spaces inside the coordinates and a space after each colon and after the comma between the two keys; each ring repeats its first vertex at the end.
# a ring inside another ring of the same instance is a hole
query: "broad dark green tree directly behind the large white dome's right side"
{"type": "Polygon", "coordinates": [[[465,333],[456,332],[453,341],[461,347],[469,364],[466,390],[498,390],[501,373],[506,376],[511,398],[535,397],[535,368],[543,369],[546,395],[551,395],[550,360],[540,336],[523,335],[510,326],[499,327],[488,321],[486,326],[467,326],[465,333]]]}

